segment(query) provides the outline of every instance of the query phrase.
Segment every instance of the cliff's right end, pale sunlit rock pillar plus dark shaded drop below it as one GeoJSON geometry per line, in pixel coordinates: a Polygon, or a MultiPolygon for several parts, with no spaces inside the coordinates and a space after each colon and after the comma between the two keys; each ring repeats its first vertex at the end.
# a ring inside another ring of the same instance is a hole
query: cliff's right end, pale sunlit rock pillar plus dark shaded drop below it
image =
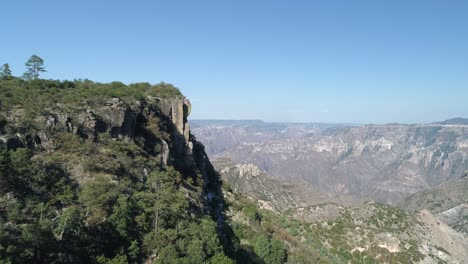
{"type": "Polygon", "coordinates": [[[195,204],[192,209],[200,215],[209,214],[217,223],[218,238],[225,254],[239,263],[263,263],[251,247],[240,247],[239,239],[226,222],[228,208],[221,189],[221,176],[211,164],[203,144],[189,133],[190,109],[185,100],[176,103],[160,100],[159,105],[142,102],[138,110],[129,111],[132,113],[125,113],[121,127],[107,127],[111,136],[133,138],[147,155],[158,157],[161,169],[173,166],[185,180],[191,178],[193,184],[183,184],[184,188],[197,192],[196,186],[202,186],[203,206],[195,204]]]}

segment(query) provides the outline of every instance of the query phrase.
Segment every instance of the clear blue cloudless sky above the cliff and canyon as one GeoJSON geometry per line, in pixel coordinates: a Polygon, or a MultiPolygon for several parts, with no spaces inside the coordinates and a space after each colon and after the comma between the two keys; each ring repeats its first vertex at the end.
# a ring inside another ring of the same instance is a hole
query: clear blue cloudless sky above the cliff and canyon
{"type": "Polygon", "coordinates": [[[4,1],[0,63],[166,81],[191,118],[468,117],[468,1],[4,1]]]}

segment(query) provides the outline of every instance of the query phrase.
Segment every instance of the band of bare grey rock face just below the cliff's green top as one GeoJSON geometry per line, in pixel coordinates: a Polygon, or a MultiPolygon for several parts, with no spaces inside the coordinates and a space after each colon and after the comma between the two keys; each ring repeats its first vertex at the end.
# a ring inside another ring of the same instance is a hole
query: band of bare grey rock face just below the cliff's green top
{"type": "Polygon", "coordinates": [[[162,166],[177,162],[181,168],[190,168],[195,165],[187,121],[190,109],[185,98],[148,97],[133,105],[115,97],[102,105],[70,107],[57,103],[44,109],[47,114],[35,117],[34,125],[26,130],[14,129],[21,127],[23,110],[17,108],[7,115],[6,123],[13,129],[0,136],[0,146],[54,151],[56,133],[66,131],[91,142],[104,133],[114,140],[143,140],[148,151],[158,154],[162,166]],[[148,137],[147,132],[156,137],[148,137]]]}

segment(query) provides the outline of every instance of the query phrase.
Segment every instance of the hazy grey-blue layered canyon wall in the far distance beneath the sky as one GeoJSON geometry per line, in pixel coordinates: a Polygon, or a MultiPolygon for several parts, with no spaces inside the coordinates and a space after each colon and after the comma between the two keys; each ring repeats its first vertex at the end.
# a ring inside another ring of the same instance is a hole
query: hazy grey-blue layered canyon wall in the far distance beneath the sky
{"type": "Polygon", "coordinates": [[[193,132],[215,158],[252,163],[272,176],[302,179],[325,192],[392,204],[460,178],[468,169],[463,123],[301,125],[301,130],[298,124],[275,125],[205,121],[193,132]],[[224,139],[235,144],[223,149],[224,139]]]}

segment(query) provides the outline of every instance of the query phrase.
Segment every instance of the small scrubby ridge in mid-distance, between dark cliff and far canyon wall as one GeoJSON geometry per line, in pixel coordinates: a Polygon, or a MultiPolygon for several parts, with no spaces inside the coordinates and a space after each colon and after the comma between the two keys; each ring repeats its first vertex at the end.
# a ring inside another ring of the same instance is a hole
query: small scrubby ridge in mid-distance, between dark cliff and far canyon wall
{"type": "Polygon", "coordinates": [[[336,217],[343,206],[363,203],[352,197],[325,193],[305,181],[272,177],[253,164],[235,164],[229,159],[218,159],[213,165],[221,174],[225,188],[251,198],[263,209],[292,214],[298,219],[330,219],[336,217]]]}

